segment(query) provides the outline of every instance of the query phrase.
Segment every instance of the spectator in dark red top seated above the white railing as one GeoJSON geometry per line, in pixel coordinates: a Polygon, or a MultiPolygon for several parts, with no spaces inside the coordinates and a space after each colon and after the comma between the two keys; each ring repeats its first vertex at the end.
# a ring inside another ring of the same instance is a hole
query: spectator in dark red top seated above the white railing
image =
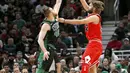
{"type": "Polygon", "coordinates": [[[113,35],[111,40],[108,42],[107,47],[114,49],[114,50],[119,50],[121,49],[122,46],[122,42],[117,40],[118,36],[117,35],[113,35]]]}

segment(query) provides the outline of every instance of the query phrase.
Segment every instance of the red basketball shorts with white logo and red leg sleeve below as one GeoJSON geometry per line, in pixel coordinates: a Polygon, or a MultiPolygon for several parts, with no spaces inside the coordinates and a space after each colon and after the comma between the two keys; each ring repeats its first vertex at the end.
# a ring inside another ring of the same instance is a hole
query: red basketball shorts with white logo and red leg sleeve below
{"type": "Polygon", "coordinates": [[[81,73],[88,73],[89,68],[98,64],[99,57],[102,54],[102,44],[101,42],[91,41],[88,43],[87,48],[82,56],[82,71],[81,73]]]}

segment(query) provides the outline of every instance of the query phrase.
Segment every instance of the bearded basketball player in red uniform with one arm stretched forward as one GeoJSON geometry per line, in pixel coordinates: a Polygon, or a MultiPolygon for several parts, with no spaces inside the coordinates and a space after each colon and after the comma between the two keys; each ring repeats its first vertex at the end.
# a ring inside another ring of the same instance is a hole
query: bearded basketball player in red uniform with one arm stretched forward
{"type": "Polygon", "coordinates": [[[89,43],[82,56],[81,73],[97,73],[97,64],[99,62],[98,59],[102,54],[102,31],[100,13],[104,9],[104,3],[101,1],[92,1],[90,5],[88,5],[87,3],[85,3],[85,0],[80,1],[85,10],[92,11],[92,13],[89,14],[88,17],[82,20],[58,18],[58,21],[61,23],[74,25],[85,24],[85,33],[86,37],[89,40],[89,43]]]}

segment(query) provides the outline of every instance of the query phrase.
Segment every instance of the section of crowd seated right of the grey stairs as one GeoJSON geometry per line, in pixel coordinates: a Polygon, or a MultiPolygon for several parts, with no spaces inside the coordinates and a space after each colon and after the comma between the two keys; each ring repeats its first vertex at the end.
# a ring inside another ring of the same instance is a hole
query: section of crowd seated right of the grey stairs
{"type": "MultiPolygon", "coordinates": [[[[102,73],[130,73],[130,12],[119,21],[104,53],[100,56],[99,69],[102,73]],[[114,53],[113,51],[128,51],[114,53]]],[[[100,73],[100,72],[99,72],[100,73]]]]}

